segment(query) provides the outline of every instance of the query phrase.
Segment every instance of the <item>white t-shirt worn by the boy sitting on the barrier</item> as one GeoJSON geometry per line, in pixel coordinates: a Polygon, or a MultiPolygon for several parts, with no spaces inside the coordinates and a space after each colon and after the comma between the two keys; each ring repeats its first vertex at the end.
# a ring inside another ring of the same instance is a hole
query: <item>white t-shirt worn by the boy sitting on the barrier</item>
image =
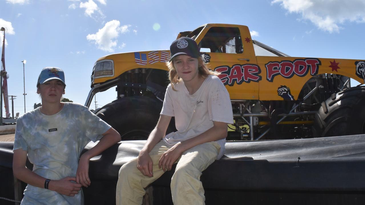
{"type": "MultiPolygon", "coordinates": [[[[227,89],[217,76],[209,75],[192,95],[184,82],[166,89],[162,115],[175,117],[176,132],[169,133],[163,140],[173,146],[177,142],[193,138],[214,126],[213,121],[233,123],[231,100],[227,89]]],[[[217,159],[223,156],[226,139],[217,141],[221,146],[217,159]]]]}

